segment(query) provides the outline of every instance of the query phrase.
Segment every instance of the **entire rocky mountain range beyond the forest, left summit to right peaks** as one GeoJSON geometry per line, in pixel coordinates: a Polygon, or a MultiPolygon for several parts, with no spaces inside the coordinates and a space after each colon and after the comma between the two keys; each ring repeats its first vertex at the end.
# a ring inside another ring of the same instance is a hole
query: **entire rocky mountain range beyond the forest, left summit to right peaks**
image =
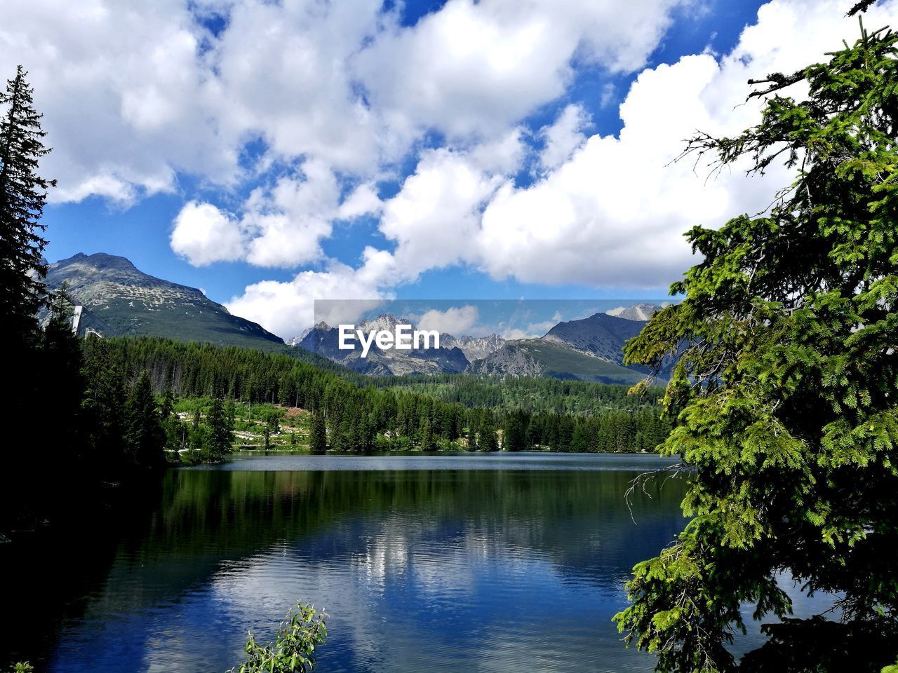
{"type": "MultiPolygon", "coordinates": [[[[250,320],[231,315],[221,304],[198,289],[155,278],[138,270],[128,259],[97,253],[61,259],[48,267],[47,284],[66,284],[76,304],[83,307],[80,330],[95,329],[105,336],[146,335],[180,341],[201,341],[265,350],[284,342],[250,320]]],[[[341,350],[339,330],[321,322],[290,339],[295,356],[321,366],[343,365],[374,375],[428,373],[484,373],[546,376],[561,379],[634,383],[640,368],[622,365],[622,348],[646,324],[657,307],[637,304],[618,309],[617,315],[596,313],[586,319],[559,322],[537,339],[506,340],[489,337],[440,335],[439,348],[381,349],[372,345],[367,357],[361,348],[341,350]]],[[[408,319],[384,314],[358,328],[393,331],[408,319]]]]}

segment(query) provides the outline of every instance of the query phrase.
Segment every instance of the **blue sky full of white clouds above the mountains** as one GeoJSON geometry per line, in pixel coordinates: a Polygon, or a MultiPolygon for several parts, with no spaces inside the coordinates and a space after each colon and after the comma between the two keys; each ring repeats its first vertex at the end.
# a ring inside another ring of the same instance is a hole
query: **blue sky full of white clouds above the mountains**
{"type": "Polygon", "coordinates": [[[48,260],[122,255],[289,338],[316,299],[665,297],[683,232],[790,180],[683,140],[757,123],[747,80],[856,39],[851,4],[10,0],[0,76],[54,148],[48,260]]]}

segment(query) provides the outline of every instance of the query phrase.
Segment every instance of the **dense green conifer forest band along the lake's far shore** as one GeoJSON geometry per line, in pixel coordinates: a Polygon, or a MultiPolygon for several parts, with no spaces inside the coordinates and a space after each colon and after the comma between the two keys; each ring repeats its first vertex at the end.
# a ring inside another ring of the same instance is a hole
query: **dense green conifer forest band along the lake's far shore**
{"type": "MultiPolygon", "coordinates": [[[[99,343],[99,340],[98,340],[99,343]]],[[[465,406],[434,397],[427,387],[384,388],[383,381],[365,385],[334,371],[322,371],[285,354],[235,346],[214,346],[157,337],[116,337],[101,345],[122,379],[146,371],[155,391],[185,398],[227,398],[248,403],[299,406],[313,414],[313,450],[370,451],[383,449],[478,450],[548,449],[562,451],[645,451],[664,440],[669,424],[656,404],[629,402],[615,407],[595,404],[578,415],[533,412],[515,402],[497,406],[465,406]]],[[[506,380],[506,384],[526,387],[506,380]]],[[[569,381],[546,381],[561,395],[569,381]]],[[[498,384],[480,381],[472,389],[498,384]]],[[[533,389],[539,389],[542,382],[533,389]]],[[[585,384],[603,402],[627,400],[621,386],[585,384]],[[602,397],[603,389],[611,389],[602,397]]],[[[579,404],[583,404],[581,399],[579,404]]]]}

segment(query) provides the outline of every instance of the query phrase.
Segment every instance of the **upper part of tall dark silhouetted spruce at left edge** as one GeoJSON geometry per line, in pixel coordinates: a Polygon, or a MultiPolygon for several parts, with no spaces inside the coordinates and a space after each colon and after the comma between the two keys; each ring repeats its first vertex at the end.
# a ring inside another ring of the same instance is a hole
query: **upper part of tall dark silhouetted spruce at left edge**
{"type": "MultiPolygon", "coordinates": [[[[47,135],[32,107],[31,86],[22,66],[0,92],[0,315],[4,333],[27,351],[38,335],[36,314],[45,303],[47,268],[41,253],[47,241],[40,223],[47,190],[55,180],[40,178],[40,158],[49,153],[47,135]]],[[[22,353],[16,354],[16,357],[22,353]]]]}

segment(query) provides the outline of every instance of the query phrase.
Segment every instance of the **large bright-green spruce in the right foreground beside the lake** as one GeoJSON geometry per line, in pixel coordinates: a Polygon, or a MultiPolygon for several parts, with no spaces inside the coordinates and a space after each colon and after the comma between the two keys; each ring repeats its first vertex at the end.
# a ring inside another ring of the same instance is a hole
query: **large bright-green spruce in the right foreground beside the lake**
{"type": "Polygon", "coordinates": [[[763,214],[693,228],[685,299],[627,345],[654,371],[676,360],[662,452],[690,472],[689,524],[634,568],[617,616],[657,670],[878,671],[898,655],[896,83],[898,34],[862,28],[757,83],[756,127],[691,141],[795,180],[763,214]],[[784,93],[802,81],[804,100],[784,93]],[[792,579],[832,610],[790,617],[792,579]],[[746,615],[769,638],[737,662],[746,615]]]}

